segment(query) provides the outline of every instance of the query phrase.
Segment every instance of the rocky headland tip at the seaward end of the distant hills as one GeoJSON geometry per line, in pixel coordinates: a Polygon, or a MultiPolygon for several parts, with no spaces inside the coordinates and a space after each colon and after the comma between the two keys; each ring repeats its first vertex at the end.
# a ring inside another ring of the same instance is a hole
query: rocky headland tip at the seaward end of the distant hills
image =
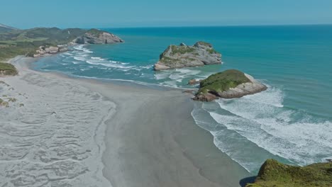
{"type": "Polygon", "coordinates": [[[77,44],[102,44],[123,42],[123,40],[112,33],[91,29],[88,30],[87,33],[84,33],[84,35],[74,39],[73,42],[77,44]]]}

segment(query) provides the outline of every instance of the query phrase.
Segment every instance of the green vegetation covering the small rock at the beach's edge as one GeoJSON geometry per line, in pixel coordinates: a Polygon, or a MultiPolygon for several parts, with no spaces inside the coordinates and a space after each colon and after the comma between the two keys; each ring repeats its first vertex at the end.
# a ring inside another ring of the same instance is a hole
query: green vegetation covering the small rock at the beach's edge
{"type": "Polygon", "coordinates": [[[243,72],[236,69],[228,69],[224,72],[212,74],[199,84],[198,93],[206,94],[209,91],[222,92],[235,88],[239,84],[250,82],[243,72]]]}

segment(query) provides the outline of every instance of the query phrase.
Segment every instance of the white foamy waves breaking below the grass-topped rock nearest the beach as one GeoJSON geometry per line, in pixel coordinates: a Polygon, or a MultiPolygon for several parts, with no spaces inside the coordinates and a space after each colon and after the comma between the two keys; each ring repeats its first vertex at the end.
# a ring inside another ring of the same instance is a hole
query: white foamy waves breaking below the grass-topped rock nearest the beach
{"type": "MultiPolygon", "coordinates": [[[[260,156],[259,152],[264,151],[271,153],[269,157],[276,155],[299,165],[321,162],[331,156],[331,121],[284,108],[283,98],[282,90],[269,86],[259,94],[219,99],[218,106],[204,108],[216,121],[214,127],[205,128],[214,135],[215,145],[248,171],[256,171],[260,162],[268,158],[260,156]],[[245,144],[258,151],[246,152],[245,144]]],[[[194,118],[197,123],[204,121],[194,118]]]]}

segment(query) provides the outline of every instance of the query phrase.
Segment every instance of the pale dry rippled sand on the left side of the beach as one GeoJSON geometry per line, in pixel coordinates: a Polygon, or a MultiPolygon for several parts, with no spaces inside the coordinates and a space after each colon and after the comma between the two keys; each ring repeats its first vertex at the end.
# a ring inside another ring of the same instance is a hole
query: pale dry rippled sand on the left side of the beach
{"type": "Polygon", "coordinates": [[[0,108],[0,186],[111,186],[101,154],[114,103],[37,72],[4,81],[0,98],[17,101],[0,108]]]}

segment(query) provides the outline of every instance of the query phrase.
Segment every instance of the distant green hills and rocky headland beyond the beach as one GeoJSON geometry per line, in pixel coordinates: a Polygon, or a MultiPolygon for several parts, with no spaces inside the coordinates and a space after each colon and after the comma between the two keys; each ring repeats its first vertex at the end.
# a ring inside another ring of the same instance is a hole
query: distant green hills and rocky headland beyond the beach
{"type": "Polygon", "coordinates": [[[34,56],[41,46],[57,47],[68,43],[111,43],[123,42],[116,35],[102,30],[81,28],[31,28],[18,30],[0,24],[0,61],[16,55],[34,56]],[[78,39],[79,40],[78,40],[78,39]]]}

